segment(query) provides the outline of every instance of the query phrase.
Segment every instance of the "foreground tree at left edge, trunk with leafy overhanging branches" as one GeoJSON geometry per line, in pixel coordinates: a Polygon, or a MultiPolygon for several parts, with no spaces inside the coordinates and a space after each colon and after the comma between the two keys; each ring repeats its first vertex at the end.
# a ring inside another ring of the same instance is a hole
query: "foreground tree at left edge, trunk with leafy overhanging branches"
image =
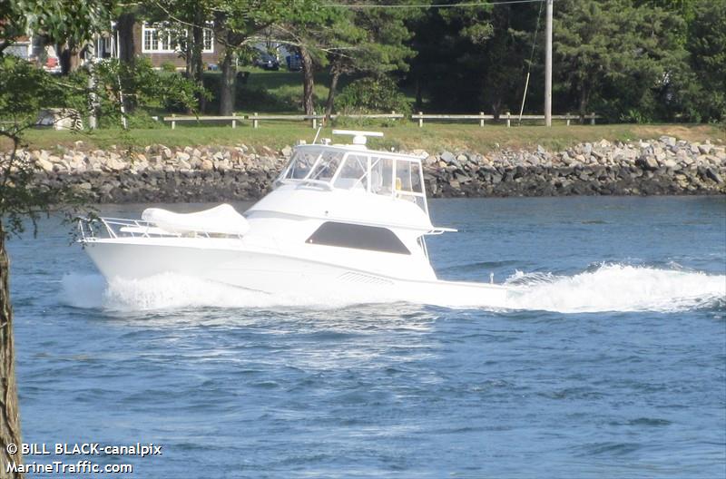
{"type": "MultiPolygon", "coordinates": [[[[60,17],[63,17],[61,6],[64,4],[63,0],[44,2],[44,5],[48,5],[60,17]]],[[[4,15],[7,12],[8,10],[4,10],[4,15]]],[[[32,12],[24,13],[21,8],[12,13],[24,18],[32,16],[32,12]]],[[[39,16],[47,17],[44,13],[39,16]]],[[[3,20],[0,24],[25,22],[17,17],[5,17],[3,20]]],[[[95,20],[96,17],[75,18],[74,28],[83,29],[84,34],[79,31],[72,33],[83,41],[90,39],[94,33],[105,27],[104,23],[96,24],[95,20]]],[[[53,27],[48,22],[40,25],[44,29],[53,27]]],[[[169,78],[159,75],[148,62],[139,62],[132,70],[124,71],[123,68],[117,62],[98,65],[98,81],[93,84],[93,93],[98,95],[102,105],[111,105],[109,112],[120,110],[120,98],[114,92],[119,75],[128,77],[127,83],[134,85],[133,93],[141,104],[192,101],[191,84],[177,76],[169,78]]],[[[41,108],[61,107],[66,117],[81,117],[92,107],[87,101],[90,93],[92,91],[84,81],[83,73],[58,78],[35,68],[25,60],[0,53],[0,118],[3,119],[0,140],[3,140],[4,145],[9,142],[11,147],[9,152],[0,153],[0,478],[22,476],[8,472],[6,468],[8,464],[22,462],[19,451],[10,454],[7,450],[7,445],[11,443],[20,445],[22,436],[15,382],[13,308],[5,239],[8,235],[23,233],[24,220],[31,220],[35,228],[39,215],[47,213],[55,205],[78,205],[83,200],[78,191],[35,184],[34,174],[39,168],[36,159],[21,152],[20,147],[25,131],[34,126],[41,108]]]]}

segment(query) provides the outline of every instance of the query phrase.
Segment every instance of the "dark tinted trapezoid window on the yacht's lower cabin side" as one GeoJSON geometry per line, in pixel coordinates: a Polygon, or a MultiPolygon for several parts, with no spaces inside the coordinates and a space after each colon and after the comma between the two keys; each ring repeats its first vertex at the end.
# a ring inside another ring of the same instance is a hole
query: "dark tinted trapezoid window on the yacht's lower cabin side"
{"type": "Polygon", "coordinates": [[[411,254],[391,230],[375,226],[327,221],[320,225],[309,239],[309,244],[338,246],[339,248],[368,249],[386,253],[411,254]]]}

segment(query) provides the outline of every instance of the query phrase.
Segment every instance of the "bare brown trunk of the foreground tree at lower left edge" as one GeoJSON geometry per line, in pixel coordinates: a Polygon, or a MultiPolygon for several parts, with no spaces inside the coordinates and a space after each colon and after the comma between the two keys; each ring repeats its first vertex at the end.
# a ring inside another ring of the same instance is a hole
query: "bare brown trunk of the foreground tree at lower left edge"
{"type": "Polygon", "coordinates": [[[5,231],[0,223],[0,478],[21,478],[22,474],[8,473],[7,464],[21,464],[23,456],[19,447],[20,415],[17,404],[17,385],[15,384],[15,347],[13,344],[13,308],[10,305],[8,270],[10,261],[5,251],[5,231]],[[15,454],[9,454],[7,446],[18,446],[15,454]]]}

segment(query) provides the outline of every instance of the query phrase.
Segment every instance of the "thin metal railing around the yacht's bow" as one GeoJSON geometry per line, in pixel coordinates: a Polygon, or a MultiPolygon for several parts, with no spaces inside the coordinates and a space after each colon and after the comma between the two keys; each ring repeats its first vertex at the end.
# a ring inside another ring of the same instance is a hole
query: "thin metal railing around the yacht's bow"
{"type": "Polygon", "coordinates": [[[241,239],[240,234],[220,233],[212,230],[185,229],[183,232],[168,231],[155,223],[127,218],[83,218],[78,221],[82,241],[98,239],[105,233],[106,238],[229,238],[241,239]]]}

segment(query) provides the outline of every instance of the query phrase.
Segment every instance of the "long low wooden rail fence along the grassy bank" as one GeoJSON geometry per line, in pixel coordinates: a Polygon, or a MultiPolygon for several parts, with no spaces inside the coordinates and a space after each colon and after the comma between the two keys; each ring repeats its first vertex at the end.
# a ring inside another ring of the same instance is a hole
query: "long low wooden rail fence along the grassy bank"
{"type": "MultiPolygon", "coordinates": [[[[397,113],[397,112],[390,112],[390,113],[375,113],[375,114],[332,114],[330,115],[330,119],[335,120],[336,118],[354,118],[354,119],[388,119],[388,120],[402,120],[406,118],[407,115],[403,113],[397,113]]],[[[312,115],[304,115],[304,114],[258,114],[258,113],[252,113],[250,115],[237,115],[232,113],[231,116],[177,116],[175,114],[172,114],[172,116],[165,116],[163,118],[164,122],[171,122],[172,123],[172,130],[176,128],[177,122],[231,122],[232,128],[237,128],[238,122],[251,122],[253,128],[259,128],[260,122],[268,122],[268,121],[276,121],[276,120],[285,120],[289,122],[310,122],[311,126],[313,128],[318,128],[319,122],[325,122],[325,119],[327,118],[324,114],[312,114],[312,115]]],[[[424,127],[424,120],[433,121],[433,122],[467,122],[470,120],[477,120],[479,122],[479,126],[483,127],[485,125],[486,121],[489,122],[495,122],[495,116],[491,114],[484,114],[484,112],[479,112],[479,114],[445,114],[445,113],[423,113],[418,112],[417,114],[412,114],[409,117],[411,120],[417,120],[418,126],[420,128],[424,127]]],[[[600,118],[600,116],[596,115],[595,113],[591,113],[589,115],[584,115],[584,120],[588,120],[590,124],[595,124],[595,119],[600,118]]],[[[553,120],[564,120],[567,124],[567,126],[570,125],[570,122],[573,120],[580,120],[579,115],[575,114],[564,114],[564,115],[552,115],[553,120]]],[[[518,122],[520,120],[526,120],[526,121],[543,121],[544,122],[544,115],[531,115],[526,114],[522,115],[521,117],[519,115],[513,115],[511,113],[505,113],[502,115],[499,115],[499,122],[506,122],[507,127],[512,126],[512,122],[518,122]]]]}

